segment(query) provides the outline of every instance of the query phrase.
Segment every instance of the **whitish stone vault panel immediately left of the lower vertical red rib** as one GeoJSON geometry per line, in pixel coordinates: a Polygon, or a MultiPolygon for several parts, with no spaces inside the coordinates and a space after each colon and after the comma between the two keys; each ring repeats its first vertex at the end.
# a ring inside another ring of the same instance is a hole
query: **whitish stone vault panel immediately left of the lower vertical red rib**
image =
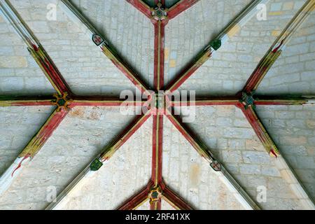
{"type": "Polygon", "coordinates": [[[129,197],[146,186],[151,175],[152,120],[148,120],[113,155],[109,162],[69,198],[60,209],[117,209],[129,197]]]}

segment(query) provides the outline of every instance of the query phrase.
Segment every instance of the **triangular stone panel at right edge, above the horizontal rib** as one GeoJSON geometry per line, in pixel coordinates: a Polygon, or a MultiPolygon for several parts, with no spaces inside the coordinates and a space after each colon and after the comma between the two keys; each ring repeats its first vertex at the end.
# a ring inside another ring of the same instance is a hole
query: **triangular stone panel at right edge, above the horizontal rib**
{"type": "Polygon", "coordinates": [[[262,80],[258,94],[315,94],[314,18],[313,10],[262,80]]]}

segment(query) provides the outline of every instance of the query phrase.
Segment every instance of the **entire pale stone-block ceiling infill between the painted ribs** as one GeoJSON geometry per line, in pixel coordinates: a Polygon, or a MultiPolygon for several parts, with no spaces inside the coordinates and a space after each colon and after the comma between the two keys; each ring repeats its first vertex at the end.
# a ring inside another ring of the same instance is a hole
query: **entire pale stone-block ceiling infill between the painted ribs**
{"type": "MultiPolygon", "coordinates": [[[[2,0],[1,0],[2,1],[2,0]]],[[[153,88],[154,27],[125,0],[71,1],[153,88]]],[[[151,7],[154,0],[146,1],[151,7]]],[[[177,1],[166,1],[170,7],[177,1]]],[[[304,1],[272,0],[267,20],[249,20],[241,31],[205,62],[180,90],[197,96],[232,96],[264,57],[304,1]]],[[[46,18],[57,0],[11,0],[48,52],[75,94],[119,96],[138,92],[110,59],[95,48],[69,15],[57,6],[57,20],[46,18]]],[[[165,28],[165,84],[169,84],[233,19],[248,0],[201,0],[169,21],[165,28]]],[[[293,35],[256,91],[259,95],[315,95],[314,10],[293,35]]],[[[0,16],[0,96],[51,95],[27,46],[0,16]]],[[[135,109],[139,110],[139,108],[135,109]]],[[[192,109],[193,110],[193,109],[192,109]]],[[[315,200],[315,106],[256,106],[258,116],[311,200],[315,200]]],[[[54,111],[53,106],[0,107],[0,175],[10,167],[54,111]]],[[[303,209],[303,204],[276,168],[244,114],[235,106],[197,106],[188,127],[211,148],[248,195],[262,209],[303,209]],[[257,188],[267,201],[257,202],[257,188]]],[[[48,189],[61,193],[104,146],[135,116],[118,107],[77,106],[64,118],[41,151],[0,197],[0,209],[45,209],[48,189]]],[[[164,120],[162,174],[165,183],[195,209],[244,209],[206,160],[164,120]]],[[[116,209],[151,179],[153,118],[106,161],[96,175],[71,193],[60,209],[116,209]]],[[[138,209],[150,209],[146,202],[138,209]]],[[[174,209],[162,200],[162,209],[174,209]]]]}

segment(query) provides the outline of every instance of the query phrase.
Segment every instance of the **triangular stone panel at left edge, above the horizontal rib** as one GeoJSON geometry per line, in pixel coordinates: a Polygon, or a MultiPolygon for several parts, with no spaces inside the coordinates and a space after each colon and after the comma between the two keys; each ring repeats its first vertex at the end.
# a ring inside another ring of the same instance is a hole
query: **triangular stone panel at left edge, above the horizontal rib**
{"type": "Polygon", "coordinates": [[[55,90],[13,28],[0,16],[1,94],[52,94],[55,90]]]}

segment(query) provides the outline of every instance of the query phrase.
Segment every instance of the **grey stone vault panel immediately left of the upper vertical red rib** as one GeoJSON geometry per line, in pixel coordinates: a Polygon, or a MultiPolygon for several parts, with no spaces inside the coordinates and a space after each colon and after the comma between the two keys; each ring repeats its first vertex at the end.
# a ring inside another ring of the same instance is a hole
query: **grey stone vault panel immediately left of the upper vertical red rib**
{"type": "Polygon", "coordinates": [[[153,86],[154,29],[148,18],[127,1],[71,2],[105,36],[118,54],[132,64],[139,76],[153,86]]]}

